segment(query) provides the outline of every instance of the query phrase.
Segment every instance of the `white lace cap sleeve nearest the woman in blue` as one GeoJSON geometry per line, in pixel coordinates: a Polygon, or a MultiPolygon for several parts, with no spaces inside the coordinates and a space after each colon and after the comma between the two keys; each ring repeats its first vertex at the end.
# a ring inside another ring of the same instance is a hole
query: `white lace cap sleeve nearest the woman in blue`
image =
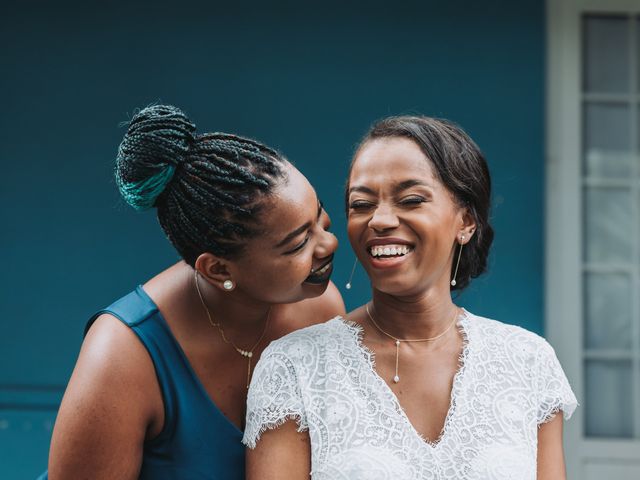
{"type": "Polygon", "coordinates": [[[279,342],[274,342],[265,349],[253,373],[242,443],[255,448],[264,431],[292,419],[299,432],[308,429],[296,369],[279,342]]]}

